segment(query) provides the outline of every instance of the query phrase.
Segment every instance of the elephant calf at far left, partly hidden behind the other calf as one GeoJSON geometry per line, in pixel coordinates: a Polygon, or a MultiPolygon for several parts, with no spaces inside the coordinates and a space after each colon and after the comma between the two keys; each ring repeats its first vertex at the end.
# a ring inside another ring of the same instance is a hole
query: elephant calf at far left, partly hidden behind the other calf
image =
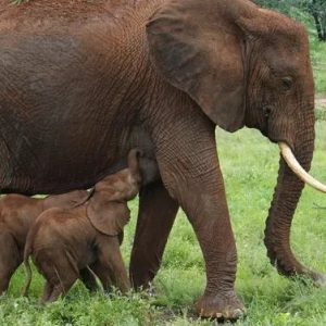
{"type": "Polygon", "coordinates": [[[27,234],[37,216],[54,206],[73,208],[87,196],[87,191],[72,191],[45,199],[22,195],[0,199],[0,294],[7,291],[13,273],[23,262],[27,234]]]}

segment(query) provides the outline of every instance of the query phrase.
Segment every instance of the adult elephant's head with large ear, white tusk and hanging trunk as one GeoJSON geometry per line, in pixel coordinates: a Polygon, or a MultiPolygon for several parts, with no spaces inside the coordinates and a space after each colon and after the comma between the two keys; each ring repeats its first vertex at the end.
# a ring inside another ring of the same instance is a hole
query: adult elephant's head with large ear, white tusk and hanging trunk
{"type": "Polygon", "coordinates": [[[326,187],[305,173],[314,149],[314,83],[304,27],[248,0],[171,0],[152,15],[147,37],[159,74],[213,123],[228,131],[258,128],[280,145],[265,243],[280,273],[305,273],[289,246],[304,186],[297,175],[326,187]]]}

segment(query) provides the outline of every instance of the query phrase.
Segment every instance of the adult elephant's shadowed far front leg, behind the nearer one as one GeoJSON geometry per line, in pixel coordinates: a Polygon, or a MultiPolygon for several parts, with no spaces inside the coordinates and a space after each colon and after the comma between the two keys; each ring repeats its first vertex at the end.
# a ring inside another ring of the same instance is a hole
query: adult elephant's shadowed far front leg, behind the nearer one
{"type": "Polygon", "coordinates": [[[129,267],[135,288],[147,287],[159,271],[177,210],[162,183],[142,189],[129,267]]]}

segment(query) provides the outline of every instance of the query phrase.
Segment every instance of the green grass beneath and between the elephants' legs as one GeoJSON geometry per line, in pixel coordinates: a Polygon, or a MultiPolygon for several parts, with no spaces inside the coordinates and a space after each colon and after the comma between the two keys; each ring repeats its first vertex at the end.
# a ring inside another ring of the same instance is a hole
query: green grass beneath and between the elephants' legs
{"type": "MultiPolygon", "coordinates": [[[[312,174],[326,180],[326,122],[316,126],[312,174]]],[[[248,310],[237,325],[325,325],[326,291],[279,276],[269,265],[263,244],[267,209],[275,185],[278,150],[258,131],[234,135],[217,130],[218,152],[239,252],[236,288],[248,310]]],[[[298,206],[292,247],[306,265],[326,273],[326,206],[323,195],[306,188],[298,206]]],[[[134,237],[137,200],[126,228],[123,253],[128,261],[134,237]]],[[[179,212],[162,268],[155,278],[156,297],[89,294],[77,284],[67,298],[48,306],[37,302],[42,279],[34,273],[30,298],[20,297],[21,268],[9,293],[0,300],[0,325],[212,325],[193,316],[192,305],[204,287],[204,265],[193,231],[179,212]]]]}

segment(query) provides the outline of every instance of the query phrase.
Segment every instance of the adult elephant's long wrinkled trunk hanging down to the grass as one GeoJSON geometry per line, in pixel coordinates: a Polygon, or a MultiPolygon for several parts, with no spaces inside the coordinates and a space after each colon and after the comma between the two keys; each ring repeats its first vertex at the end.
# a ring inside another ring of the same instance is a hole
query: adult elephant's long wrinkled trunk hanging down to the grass
{"type": "MultiPolygon", "coordinates": [[[[300,117],[294,145],[294,156],[305,171],[311,166],[315,136],[313,110],[310,112],[309,116],[300,117]]],[[[303,187],[304,183],[280,156],[278,179],[266,221],[264,242],[271,263],[280,274],[286,276],[303,274],[318,283],[322,276],[305,268],[296,259],[290,248],[291,223],[303,187]]]]}

